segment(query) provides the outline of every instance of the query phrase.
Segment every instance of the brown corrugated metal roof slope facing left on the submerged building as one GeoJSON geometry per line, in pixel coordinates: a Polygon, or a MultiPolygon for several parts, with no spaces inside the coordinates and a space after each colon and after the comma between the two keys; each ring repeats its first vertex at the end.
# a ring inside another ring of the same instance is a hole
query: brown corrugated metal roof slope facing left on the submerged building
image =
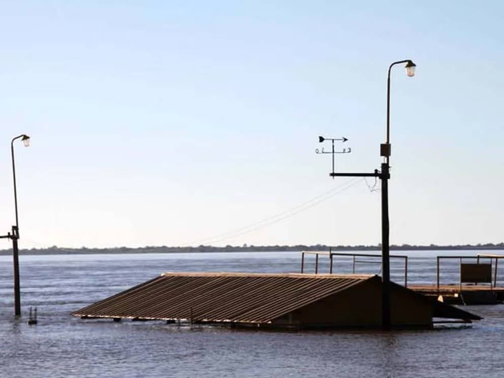
{"type": "Polygon", "coordinates": [[[74,316],[270,323],[372,275],[163,273],[74,316]]]}

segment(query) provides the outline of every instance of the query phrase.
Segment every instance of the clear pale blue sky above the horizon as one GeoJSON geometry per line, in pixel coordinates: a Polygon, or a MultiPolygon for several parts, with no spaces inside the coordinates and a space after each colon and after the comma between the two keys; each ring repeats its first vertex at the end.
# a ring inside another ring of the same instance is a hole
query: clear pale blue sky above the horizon
{"type": "Polygon", "coordinates": [[[374,181],[331,179],[315,149],[344,136],[338,172],[380,167],[403,59],[417,74],[392,71],[391,244],[504,241],[501,2],[1,10],[4,233],[10,141],[31,137],[15,143],[21,248],[377,244],[374,181]]]}

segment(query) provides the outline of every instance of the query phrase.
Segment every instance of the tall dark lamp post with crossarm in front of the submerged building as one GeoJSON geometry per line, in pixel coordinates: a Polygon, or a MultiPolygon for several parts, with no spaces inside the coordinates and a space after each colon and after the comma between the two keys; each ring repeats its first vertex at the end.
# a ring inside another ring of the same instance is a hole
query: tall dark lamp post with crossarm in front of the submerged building
{"type": "Polygon", "coordinates": [[[380,154],[385,157],[381,171],[377,169],[373,173],[330,173],[331,177],[378,177],[382,180],[382,327],[390,329],[390,245],[389,245],[389,187],[390,179],[390,71],[395,65],[405,63],[406,75],[415,76],[417,67],[412,60],[399,60],[393,62],[387,77],[387,142],[380,145],[380,154]]]}

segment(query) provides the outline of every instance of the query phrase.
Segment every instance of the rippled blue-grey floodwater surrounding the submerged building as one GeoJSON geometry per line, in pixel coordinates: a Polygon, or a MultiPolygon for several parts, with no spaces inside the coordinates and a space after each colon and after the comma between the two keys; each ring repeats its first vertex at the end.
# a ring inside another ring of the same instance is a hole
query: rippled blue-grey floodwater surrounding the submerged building
{"type": "MultiPolygon", "coordinates": [[[[434,283],[434,256],[462,253],[407,254],[408,282],[434,283]]],[[[306,260],[313,269],[313,258],[306,260]]],[[[401,283],[399,260],[392,262],[392,279],[401,283]]],[[[458,282],[458,263],[442,263],[442,283],[458,282]]],[[[323,258],[320,265],[327,270],[323,258]]],[[[388,333],[259,332],[70,316],[164,271],[298,272],[299,253],[21,256],[20,266],[23,318],[14,320],[12,258],[0,256],[2,377],[504,376],[504,305],[466,306],[485,318],[471,328],[388,333]],[[26,324],[29,306],[39,309],[37,326],[26,324]]],[[[335,260],[334,267],[352,272],[353,261],[335,260]]],[[[380,273],[380,265],[358,262],[356,272],[380,273]]]]}

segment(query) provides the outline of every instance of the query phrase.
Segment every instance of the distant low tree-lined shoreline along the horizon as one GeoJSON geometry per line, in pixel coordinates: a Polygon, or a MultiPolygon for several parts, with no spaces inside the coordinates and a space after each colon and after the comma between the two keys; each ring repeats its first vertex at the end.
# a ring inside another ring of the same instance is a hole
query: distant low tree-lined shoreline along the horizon
{"type": "MultiPolygon", "coordinates": [[[[32,248],[21,249],[20,255],[98,255],[98,254],[175,254],[175,253],[226,253],[226,252],[298,252],[302,250],[308,251],[365,251],[365,250],[381,250],[380,245],[243,245],[232,246],[227,245],[224,247],[214,247],[210,245],[200,245],[198,247],[168,247],[168,246],[145,246],[138,248],[131,247],[115,247],[115,248],[63,248],[52,246],[49,248],[32,248]]],[[[390,250],[494,250],[504,249],[504,243],[493,244],[466,244],[466,245],[391,245],[390,250]]],[[[0,256],[12,255],[12,249],[0,250],[0,256]]]]}

